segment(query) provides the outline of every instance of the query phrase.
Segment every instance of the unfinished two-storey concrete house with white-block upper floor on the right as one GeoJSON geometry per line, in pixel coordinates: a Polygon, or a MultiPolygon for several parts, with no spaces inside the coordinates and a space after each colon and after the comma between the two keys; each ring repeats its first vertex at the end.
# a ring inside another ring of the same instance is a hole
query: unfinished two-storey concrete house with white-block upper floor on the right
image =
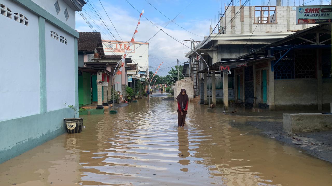
{"type": "Polygon", "coordinates": [[[234,72],[222,73],[217,63],[231,61],[287,37],[297,30],[313,26],[296,25],[294,9],[290,6],[280,6],[280,1],[277,1],[277,5],[229,7],[225,16],[221,18],[220,29],[212,33],[210,28],[211,36],[197,43],[186,54],[196,96],[204,94],[205,102],[211,99],[211,102],[216,104],[223,101],[224,93],[227,92],[229,100],[235,100],[237,92],[234,72]],[[218,68],[212,69],[209,73],[207,69],[204,70],[213,64],[218,68]],[[202,78],[204,93],[201,93],[199,88],[199,80],[202,78]],[[223,89],[225,83],[228,85],[227,90],[223,89]]]}

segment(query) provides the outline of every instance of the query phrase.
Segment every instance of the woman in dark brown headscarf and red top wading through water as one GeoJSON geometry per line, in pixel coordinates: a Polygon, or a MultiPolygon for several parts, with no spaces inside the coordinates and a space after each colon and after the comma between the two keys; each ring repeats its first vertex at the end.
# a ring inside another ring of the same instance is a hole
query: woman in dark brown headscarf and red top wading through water
{"type": "Polygon", "coordinates": [[[184,127],[189,101],[186,89],[181,89],[181,92],[178,97],[176,97],[176,100],[178,100],[178,125],[179,127],[184,127]]]}

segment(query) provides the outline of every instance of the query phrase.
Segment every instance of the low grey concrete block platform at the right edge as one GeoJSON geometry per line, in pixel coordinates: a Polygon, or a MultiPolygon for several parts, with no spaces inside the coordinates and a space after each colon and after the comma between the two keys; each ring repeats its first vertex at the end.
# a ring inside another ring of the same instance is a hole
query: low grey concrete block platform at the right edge
{"type": "Polygon", "coordinates": [[[332,129],[332,115],[322,113],[283,114],[283,128],[289,133],[332,129]]]}

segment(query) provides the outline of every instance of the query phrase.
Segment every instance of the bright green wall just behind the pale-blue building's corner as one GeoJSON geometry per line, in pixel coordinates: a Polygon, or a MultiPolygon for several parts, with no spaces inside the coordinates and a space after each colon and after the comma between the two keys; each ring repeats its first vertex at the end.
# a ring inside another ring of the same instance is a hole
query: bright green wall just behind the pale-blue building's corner
{"type": "Polygon", "coordinates": [[[78,76],[78,104],[79,106],[91,104],[90,73],[82,72],[78,76]]]}

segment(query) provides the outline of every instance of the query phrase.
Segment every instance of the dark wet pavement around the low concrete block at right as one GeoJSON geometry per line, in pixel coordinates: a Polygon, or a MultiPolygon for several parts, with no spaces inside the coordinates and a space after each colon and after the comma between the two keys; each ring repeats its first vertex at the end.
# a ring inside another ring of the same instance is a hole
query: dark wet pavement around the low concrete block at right
{"type": "MultiPolygon", "coordinates": [[[[296,132],[289,134],[283,131],[283,114],[289,113],[322,113],[324,111],[267,111],[267,112],[229,112],[225,115],[252,117],[244,126],[257,128],[257,132],[268,138],[276,139],[299,148],[299,153],[310,154],[321,160],[332,163],[332,130],[296,132]],[[260,118],[260,121],[257,121],[260,118]],[[268,121],[264,121],[264,120],[268,121]]],[[[232,123],[236,126],[237,123],[232,123]]]]}

